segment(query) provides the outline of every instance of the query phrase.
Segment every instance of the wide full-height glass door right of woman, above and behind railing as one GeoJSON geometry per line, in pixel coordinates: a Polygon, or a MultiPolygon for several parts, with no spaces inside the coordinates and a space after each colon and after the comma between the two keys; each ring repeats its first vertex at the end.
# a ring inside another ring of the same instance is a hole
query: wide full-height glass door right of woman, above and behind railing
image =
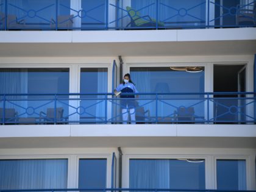
{"type": "Polygon", "coordinates": [[[205,119],[204,94],[200,94],[204,93],[204,66],[131,67],[130,74],[140,93],[158,93],[157,103],[155,95],[138,99],[138,105],[150,112],[149,118],[188,122],[205,119]]]}

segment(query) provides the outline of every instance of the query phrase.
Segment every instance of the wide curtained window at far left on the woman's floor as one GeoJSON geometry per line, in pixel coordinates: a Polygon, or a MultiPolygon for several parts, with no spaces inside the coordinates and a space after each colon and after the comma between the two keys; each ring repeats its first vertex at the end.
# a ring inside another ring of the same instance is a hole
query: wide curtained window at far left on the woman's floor
{"type": "MultiPolygon", "coordinates": [[[[54,108],[54,95],[32,94],[68,94],[69,68],[0,68],[0,82],[0,94],[25,94],[5,98],[5,108],[14,109],[20,120],[36,122],[44,116],[50,121],[47,111],[54,108]]],[[[66,97],[58,96],[58,99],[66,97]]],[[[58,113],[62,120],[68,115],[68,101],[59,100],[56,105],[62,111],[58,113]]]]}

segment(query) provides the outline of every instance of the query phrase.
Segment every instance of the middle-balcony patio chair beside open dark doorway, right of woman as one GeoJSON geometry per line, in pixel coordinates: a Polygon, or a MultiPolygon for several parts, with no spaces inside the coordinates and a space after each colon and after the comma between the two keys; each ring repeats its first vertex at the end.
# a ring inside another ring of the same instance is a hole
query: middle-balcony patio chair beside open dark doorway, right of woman
{"type": "Polygon", "coordinates": [[[193,123],[193,121],[195,121],[194,107],[179,107],[177,111],[174,111],[174,117],[175,121],[178,123],[193,123]]]}

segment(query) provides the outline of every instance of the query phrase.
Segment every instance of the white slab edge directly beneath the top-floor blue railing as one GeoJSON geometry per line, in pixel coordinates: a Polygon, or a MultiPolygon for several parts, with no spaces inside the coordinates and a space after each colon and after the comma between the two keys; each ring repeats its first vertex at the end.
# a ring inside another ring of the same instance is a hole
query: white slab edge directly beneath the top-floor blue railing
{"type": "Polygon", "coordinates": [[[253,27],[236,29],[0,31],[0,43],[119,43],[256,40],[253,27]]]}

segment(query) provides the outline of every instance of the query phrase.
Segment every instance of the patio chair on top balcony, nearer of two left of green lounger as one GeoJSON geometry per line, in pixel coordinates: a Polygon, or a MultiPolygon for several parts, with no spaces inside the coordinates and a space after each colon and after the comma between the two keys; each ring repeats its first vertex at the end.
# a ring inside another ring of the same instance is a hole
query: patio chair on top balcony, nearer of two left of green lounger
{"type": "MultiPolygon", "coordinates": [[[[73,18],[74,15],[59,15],[57,17],[58,20],[58,29],[60,30],[68,30],[73,27],[73,18]]],[[[56,21],[52,18],[51,28],[55,28],[56,21]]]]}

